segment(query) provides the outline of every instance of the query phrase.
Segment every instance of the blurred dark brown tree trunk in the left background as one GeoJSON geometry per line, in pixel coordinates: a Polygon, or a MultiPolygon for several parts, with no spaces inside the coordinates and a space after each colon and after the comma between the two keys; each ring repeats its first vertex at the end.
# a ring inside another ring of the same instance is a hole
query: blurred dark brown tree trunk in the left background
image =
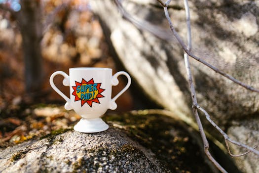
{"type": "Polygon", "coordinates": [[[21,0],[17,23],[22,35],[27,93],[39,91],[42,84],[42,18],[40,0],[21,0]]]}

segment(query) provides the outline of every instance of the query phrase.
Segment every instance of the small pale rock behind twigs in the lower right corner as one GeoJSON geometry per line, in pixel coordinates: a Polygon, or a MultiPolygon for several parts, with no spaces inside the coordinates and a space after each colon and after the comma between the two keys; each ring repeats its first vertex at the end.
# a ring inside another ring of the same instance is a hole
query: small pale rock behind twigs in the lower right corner
{"type": "MultiPolygon", "coordinates": [[[[259,143],[259,119],[251,119],[242,123],[235,123],[234,126],[228,129],[228,135],[249,146],[256,146],[259,143]]],[[[230,145],[233,154],[242,154],[246,150],[235,145],[230,145]]],[[[244,173],[259,173],[259,156],[250,153],[244,157],[235,159],[237,167],[244,173]]]]}

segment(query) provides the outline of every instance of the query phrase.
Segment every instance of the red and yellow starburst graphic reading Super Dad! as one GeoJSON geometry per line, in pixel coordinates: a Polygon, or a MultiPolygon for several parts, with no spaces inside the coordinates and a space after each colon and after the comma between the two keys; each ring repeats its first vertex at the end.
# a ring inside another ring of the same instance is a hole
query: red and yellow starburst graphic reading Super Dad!
{"type": "Polygon", "coordinates": [[[101,93],[105,90],[100,88],[102,83],[94,83],[94,80],[91,79],[86,82],[82,79],[81,83],[75,81],[75,86],[72,87],[74,89],[74,101],[81,100],[81,106],[84,103],[87,103],[90,107],[92,107],[93,102],[99,103],[98,98],[104,97],[101,93]]]}

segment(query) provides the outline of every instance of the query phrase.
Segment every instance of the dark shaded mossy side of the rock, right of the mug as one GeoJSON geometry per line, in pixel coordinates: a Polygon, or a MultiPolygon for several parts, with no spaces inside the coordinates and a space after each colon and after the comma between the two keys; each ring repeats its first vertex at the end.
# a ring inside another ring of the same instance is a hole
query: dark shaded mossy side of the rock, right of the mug
{"type": "Polygon", "coordinates": [[[130,138],[150,149],[162,165],[173,173],[211,172],[202,159],[196,140],[183,122],[148,112],[108,115],[103,119],[110,126],[125,130],[130,138]]]}

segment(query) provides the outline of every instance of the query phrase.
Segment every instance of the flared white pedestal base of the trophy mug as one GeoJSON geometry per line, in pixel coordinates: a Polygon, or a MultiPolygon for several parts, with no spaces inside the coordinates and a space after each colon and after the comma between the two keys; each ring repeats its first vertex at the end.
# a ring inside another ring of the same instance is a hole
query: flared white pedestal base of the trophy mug
{"type": "Polygon", "coordinates": [[[81,120],[74,126],[75,131],[83,133],[94,133],[107,130],[109,126],[101,119],[85,119],[81,120]]]}

